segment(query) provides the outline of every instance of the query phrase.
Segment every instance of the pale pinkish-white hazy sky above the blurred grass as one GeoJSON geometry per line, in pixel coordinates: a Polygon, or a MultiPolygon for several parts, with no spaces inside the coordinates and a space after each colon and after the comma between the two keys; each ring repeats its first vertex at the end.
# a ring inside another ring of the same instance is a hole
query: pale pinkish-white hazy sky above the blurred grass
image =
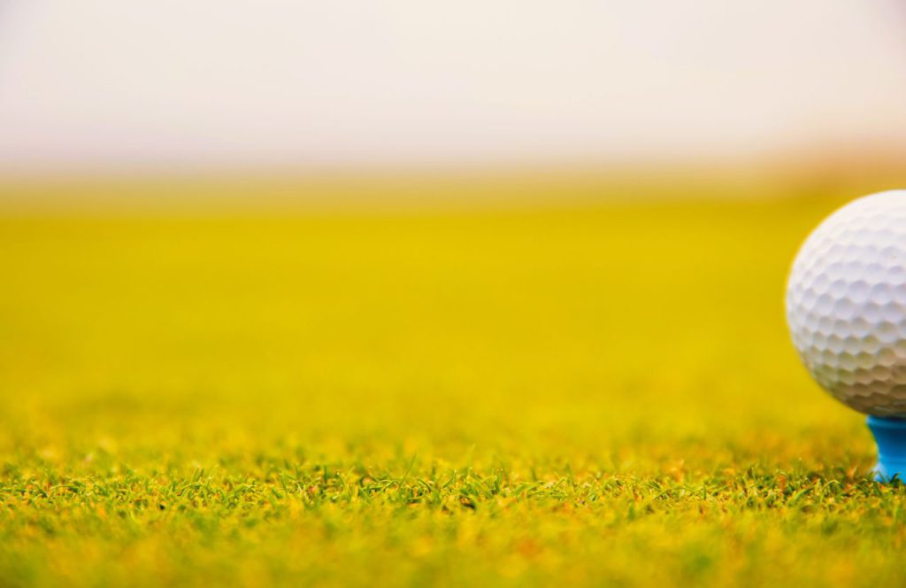
{"type": "Polygon", "coordinates": [[[897,0],[5,0],[0,166],[747,156],[906,137],[897,0]]]}

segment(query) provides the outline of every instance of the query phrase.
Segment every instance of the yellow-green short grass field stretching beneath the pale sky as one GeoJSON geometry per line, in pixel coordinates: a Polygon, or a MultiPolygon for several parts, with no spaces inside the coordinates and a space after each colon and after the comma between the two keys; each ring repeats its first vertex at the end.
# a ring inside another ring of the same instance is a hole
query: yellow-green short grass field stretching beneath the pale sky
{"type": "Polygon", "coordinates": [[[7,213],[0,585],[901,583],[783,319],[840,201],[7,213]]]}

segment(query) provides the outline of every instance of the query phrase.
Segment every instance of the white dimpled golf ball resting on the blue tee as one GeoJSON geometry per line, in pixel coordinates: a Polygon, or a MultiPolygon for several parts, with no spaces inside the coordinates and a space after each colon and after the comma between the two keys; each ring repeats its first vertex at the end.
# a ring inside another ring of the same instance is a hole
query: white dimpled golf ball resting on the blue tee
{"type": "Polygon", "coordinates": [[[850,202],[809,235],[786,321],[825,390],[859,412],[906,417],[906,191],[850,202]]]}

